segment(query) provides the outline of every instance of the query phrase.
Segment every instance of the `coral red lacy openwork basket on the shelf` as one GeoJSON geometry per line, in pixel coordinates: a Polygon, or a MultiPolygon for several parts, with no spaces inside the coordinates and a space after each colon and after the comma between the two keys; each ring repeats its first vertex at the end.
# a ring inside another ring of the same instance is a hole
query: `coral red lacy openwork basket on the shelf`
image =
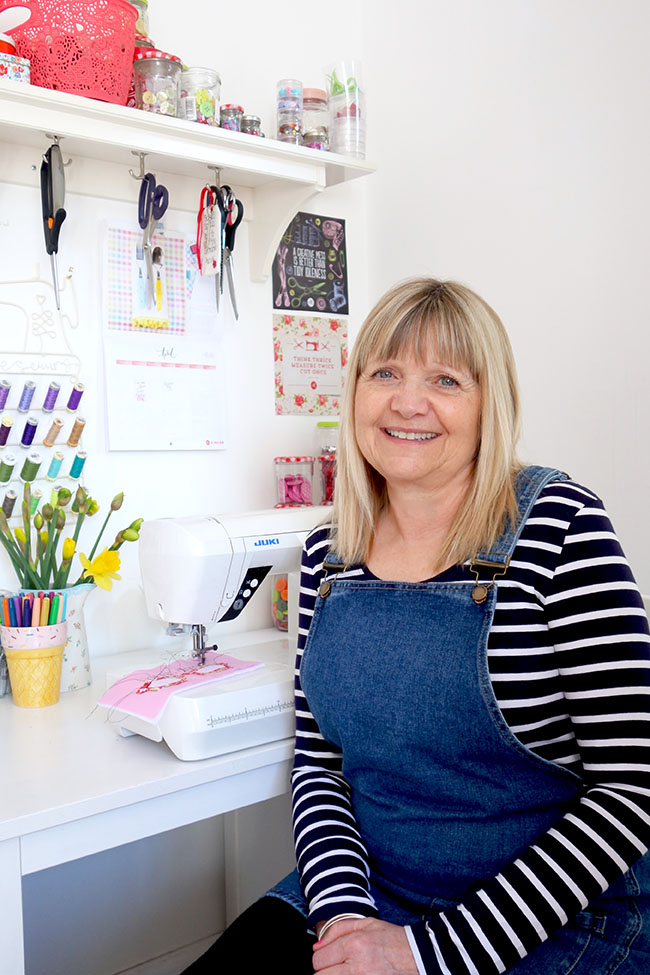
{"type": "MultiPolygon", "coordinates": [[[[0,9],[15,0],[1,0],[0,9]]],[[[12,31],[31,82],[126,105],[138,12],[127,0],[32,0],[32,16],[12,31]]]]}

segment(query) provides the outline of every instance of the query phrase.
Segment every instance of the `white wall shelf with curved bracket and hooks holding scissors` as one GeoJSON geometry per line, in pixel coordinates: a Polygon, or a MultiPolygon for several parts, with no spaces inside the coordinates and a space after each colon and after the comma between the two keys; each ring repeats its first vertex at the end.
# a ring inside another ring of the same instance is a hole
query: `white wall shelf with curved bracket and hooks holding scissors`
{"type": "Polygon", "coordinates": [[[268,277],[286,225],[309,197],[375,170],[361,159],[1,82],[0,141],[42,150],[46,133],[65,139],[62,148],[67,156],[137,170],[131,153],[146,152],[147,170],[205,182],[205,167],[218,166],[222,182],[249,187],[255,214],[250,232],[251,277],[256,281],[268,277]]]}

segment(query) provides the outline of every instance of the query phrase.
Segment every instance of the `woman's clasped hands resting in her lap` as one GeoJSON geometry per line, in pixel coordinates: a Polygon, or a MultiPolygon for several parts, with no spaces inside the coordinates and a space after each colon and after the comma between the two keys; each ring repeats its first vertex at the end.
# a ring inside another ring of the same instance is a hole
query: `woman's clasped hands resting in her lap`
{"type": "Polygon", "coordinates": [[[376,918],[337,921],[314,945],[324,975],[418,975],[406,931],[376,918]]]}

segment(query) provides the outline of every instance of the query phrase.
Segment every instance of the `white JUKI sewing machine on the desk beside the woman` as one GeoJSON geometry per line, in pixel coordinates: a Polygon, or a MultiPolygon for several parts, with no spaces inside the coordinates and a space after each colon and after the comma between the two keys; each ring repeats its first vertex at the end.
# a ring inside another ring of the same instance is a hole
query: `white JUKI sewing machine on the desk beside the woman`
{"type": "MultiPolygon", "coordinates": [[[[277,508],[145,521],[139,552],[148,614],[191,627],[193,653],[202,660],[207,650],[217,649],[205,646],[206,625],[239,616],[270,572],[297,570],[305,537],[327,512],[277,508]]],[[[291,606],[290,596],[290,612],[297,611],[296,598],[297,592],[291,606]]],[[[295,646],[281,638],[260,643],[254,631],[239,635],[234,650],[232,638],[224,642],[234,656],[264,667],[174,694],[155,724],[119,711],[111,721],[123,735],[164,739],[178,758],[189,760],[291,737],[295,646]]]]}

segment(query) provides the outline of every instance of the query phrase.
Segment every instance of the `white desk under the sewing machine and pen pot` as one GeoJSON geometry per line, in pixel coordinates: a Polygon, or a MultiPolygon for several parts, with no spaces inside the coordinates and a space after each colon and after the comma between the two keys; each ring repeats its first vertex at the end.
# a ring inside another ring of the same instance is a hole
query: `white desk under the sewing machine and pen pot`
{"type": "Polygon", "coordinates": [[[167,746],[121,738],[95,709],[94,683],[50,708],[0,699],[0,945],[23,975],[22,877],[284,794],[293,739],[181,762],[167,746]]]}

